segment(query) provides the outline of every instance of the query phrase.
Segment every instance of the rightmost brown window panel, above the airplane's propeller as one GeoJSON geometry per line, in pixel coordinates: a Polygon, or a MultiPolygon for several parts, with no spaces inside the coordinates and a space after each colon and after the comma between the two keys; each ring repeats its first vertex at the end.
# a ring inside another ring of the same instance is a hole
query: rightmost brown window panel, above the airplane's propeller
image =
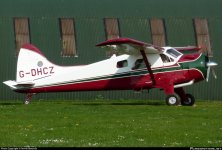
{"type": "Polygon", "coordinates": [[[208,52],[208,55],[212,56],[207,19],[198,18],[194,19],[193,21],[195,26],[197,45],[201,46],[204,52],[208,52]]]}

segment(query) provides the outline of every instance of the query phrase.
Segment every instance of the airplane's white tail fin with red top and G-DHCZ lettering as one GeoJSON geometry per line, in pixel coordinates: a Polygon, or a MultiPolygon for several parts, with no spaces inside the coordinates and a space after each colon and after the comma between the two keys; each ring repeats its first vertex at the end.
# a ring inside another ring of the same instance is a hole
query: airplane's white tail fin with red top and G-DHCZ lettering
{"type": "Polygon", "coordinates": [[[33,86],[35,80],[54,74],[55,67],[38,48],[25,44],[18,55],[16,82],[22,86],[33,86]]]}

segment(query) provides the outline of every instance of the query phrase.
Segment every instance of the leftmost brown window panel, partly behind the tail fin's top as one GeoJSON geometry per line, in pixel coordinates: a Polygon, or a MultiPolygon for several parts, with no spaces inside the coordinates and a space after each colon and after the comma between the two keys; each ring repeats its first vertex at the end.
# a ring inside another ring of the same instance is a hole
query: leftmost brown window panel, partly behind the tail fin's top
{"type": "Polygon", "coordinates": [[[14,18],[16,56],[23,44],[30,43],[29,19],[14,18]]]}

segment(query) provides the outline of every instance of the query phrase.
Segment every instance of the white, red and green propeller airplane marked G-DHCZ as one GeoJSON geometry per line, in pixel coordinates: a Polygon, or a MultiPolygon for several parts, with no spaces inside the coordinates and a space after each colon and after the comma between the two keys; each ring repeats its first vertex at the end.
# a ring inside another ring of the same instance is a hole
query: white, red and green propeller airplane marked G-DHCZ
{"type": "Polygon", "coordinates": [[[195,98],[184,87],[209,80],[218,65],[201,47],[160,47],[132,38],[119,37],[97,44],[114,54],[102,61],[80,66],[50,62],[34,45],[24,44],[17,60],[16,80],[3,82],[25,93],[24,104],[33,94],[101,90],[163,90],[169,106],[192,106],[195,98]],[[192,53],[184,53],[194,51],[192,53]],[[117,55],[118,54],[118,55],[117,55]]]}

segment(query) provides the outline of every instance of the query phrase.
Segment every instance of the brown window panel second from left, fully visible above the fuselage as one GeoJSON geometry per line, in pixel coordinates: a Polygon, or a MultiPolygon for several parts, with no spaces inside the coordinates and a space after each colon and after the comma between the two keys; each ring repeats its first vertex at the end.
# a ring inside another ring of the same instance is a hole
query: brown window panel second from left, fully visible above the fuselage
{"type": "Polygon", "coordinates": [[[74,20],[60,18],[61,41],[63,57],[77,56],[74,20]]]}

